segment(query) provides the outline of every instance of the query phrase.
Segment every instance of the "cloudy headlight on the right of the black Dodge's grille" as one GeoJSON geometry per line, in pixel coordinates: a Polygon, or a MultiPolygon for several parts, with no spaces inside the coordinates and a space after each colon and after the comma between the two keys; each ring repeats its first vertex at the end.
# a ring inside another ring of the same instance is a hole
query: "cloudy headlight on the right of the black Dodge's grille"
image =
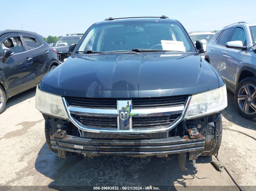
{"type": "Polygon", "coordinates": [[[192,96],[184,119],[217,113],[228,105],[226,84],[221,88],[192,96]]]}

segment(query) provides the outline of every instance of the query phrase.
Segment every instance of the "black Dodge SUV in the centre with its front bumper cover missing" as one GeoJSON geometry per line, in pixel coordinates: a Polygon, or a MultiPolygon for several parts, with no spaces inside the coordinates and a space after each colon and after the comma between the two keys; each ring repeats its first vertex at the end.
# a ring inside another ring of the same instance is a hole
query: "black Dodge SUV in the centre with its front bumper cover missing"
{"type": "Polygon", "coordinates": [[[109,18],[69,49],[36,92],[46,141],[60,157],[217,153],[226,85],[178,21],[109,18]]]}

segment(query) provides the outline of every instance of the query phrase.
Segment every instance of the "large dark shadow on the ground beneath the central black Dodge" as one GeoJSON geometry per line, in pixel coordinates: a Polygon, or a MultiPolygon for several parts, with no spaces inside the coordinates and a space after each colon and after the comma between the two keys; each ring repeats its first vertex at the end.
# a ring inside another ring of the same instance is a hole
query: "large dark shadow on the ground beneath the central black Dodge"
{"type": "MultiPolygon", "coordinates": [[[[199,157],[197,163],[209,163],[211,157],[199,157]]],[[[132,158],[127,156],[98,156],[84,158],[83,155],[69,154],[66,159],[49,151],[45,143],[38,153],[35,169],[51,178],[48,185],[54,186],[182,186],[186,187],[186,178],[204,179],[193,173],[192,161],[186,161],[187,172],[178,167],[177,155],[172,160],[148,157],[132,158]]],[[[69,188],[70,189],[70,188],[69,188]]],[[[78,188],[76,188],[78,189],[78,188]]],[[[65,190],[59,188],[59,190],[65,190]]]]}

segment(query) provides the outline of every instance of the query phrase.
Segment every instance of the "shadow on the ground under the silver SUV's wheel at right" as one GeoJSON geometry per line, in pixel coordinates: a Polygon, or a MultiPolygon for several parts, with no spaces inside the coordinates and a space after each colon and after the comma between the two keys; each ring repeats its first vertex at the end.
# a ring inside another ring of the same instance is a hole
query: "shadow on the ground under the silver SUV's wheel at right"
{"type": "MultiPolygon", "coordinates": [[[[234,94],[230,91],[227,91],[228,93],[228,107],[221,111],[221,114],[228,119],[228,121],[239,125],[241,127],[247,128],[247,129],[254,129],[256,130],[256,120],[250,121],[248,119],[245,119],[240,115],[237,108],[235,107],[234,103],[234,94]]],[[[227,126],[227,128],[229,128],[227,126]]]]}

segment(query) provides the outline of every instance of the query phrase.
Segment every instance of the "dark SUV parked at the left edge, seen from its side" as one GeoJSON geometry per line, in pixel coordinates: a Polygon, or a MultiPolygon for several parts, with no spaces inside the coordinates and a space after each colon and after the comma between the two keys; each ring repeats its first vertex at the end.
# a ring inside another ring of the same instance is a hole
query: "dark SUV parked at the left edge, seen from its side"
{"type": "Polygon", "coordinates": [[[0,31],[0,113],[6,100],[35,87],[59,65],[57,54],[41,35],[24,30],[0,31]]]}

